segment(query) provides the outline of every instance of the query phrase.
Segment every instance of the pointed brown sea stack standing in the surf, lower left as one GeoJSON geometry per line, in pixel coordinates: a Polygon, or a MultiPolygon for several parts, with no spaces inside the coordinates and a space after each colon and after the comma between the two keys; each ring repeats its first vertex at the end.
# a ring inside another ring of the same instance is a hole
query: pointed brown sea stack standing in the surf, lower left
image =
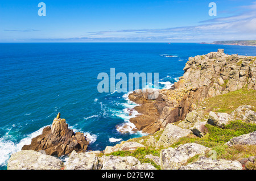
{"type": "MultiPolygon", "coordinates": [[[[60,114],[57,117],[60,117],[60,114]]],[[[44,128],[42,134],[32,138],[31,144],[24,145],[22,150],[44,150],[48,155],[59,157],[70,154],[73,150],[85,152],[88,144],[89,139],[84,133],[74,133],[68,128],[65,119],[55,118],[52,127],[44,128]]]]}

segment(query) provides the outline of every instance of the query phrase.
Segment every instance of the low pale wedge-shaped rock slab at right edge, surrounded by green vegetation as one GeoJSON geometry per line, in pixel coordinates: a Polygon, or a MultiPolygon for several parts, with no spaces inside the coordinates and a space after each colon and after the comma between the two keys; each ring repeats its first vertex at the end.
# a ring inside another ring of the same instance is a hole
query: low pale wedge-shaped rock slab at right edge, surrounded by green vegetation
{"type": "Polygon", "coordinates": [[[243,134],[238,137],[234,137],[226,145],[256,145],[256,131],[248,134],[243,134]]]}

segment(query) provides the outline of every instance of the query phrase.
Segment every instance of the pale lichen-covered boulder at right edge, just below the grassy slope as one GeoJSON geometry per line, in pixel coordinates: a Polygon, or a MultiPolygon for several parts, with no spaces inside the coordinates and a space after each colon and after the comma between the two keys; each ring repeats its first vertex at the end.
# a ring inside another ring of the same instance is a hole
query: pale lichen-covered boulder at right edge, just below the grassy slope
{"type": "Polygon", "coordinates": [[[230,116],[233,120],[242,120],[247,123],[256,123],[256,112],[251,109],[253,106],[240,106],[234,110],[230,116]]]}

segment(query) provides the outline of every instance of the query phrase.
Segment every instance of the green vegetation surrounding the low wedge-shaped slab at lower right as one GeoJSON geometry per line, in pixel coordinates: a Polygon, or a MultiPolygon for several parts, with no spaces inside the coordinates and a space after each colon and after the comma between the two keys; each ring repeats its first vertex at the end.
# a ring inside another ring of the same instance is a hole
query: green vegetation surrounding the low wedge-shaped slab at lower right
{"type": "MultiPolygon", "coordinates": [[[[237,160],[256,155],[256,145],[225,145],[233,137],[256,131],[255,124],[243,123],[241,120],[237,120],[230,122],[223,129],[209,124],[205,126],[208,129],[208,133],[203,138],[194,136],[183,137],[171,147],[175,148],[188,142],[195,142],[196,144],[204,145],[215,150],[217,159],[237,160]]],[[[210,153],[206,154],[207,157],[211,155],[210,153]]],[[[194,160],[196,158],[191,159],[194,160]]]]}

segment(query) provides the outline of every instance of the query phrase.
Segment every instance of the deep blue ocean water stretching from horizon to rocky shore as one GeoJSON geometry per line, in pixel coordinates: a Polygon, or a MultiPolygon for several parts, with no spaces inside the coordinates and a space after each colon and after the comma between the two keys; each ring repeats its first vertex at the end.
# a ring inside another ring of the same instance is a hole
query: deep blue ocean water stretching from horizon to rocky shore
{"type": "MultiPolygon", "coordinates": [[[[125,93],[99,93],[101,72],[159,73],[160,88],[183,75],[188,57],[216,52],[256,56],[256,47],[185,43],[2,43],[0,44],[0,166],[61,112],[69,128],[92,140],[89,150],[104,150],[142,136],[115,128],[129,123],[125,93]],[[174,57],[166,57],[174,55],[174,57]],[[117,139],[117,140],[115,140],[117,139]]],[[[116,81],[118,82],[118,81],[116,81]]]]}

